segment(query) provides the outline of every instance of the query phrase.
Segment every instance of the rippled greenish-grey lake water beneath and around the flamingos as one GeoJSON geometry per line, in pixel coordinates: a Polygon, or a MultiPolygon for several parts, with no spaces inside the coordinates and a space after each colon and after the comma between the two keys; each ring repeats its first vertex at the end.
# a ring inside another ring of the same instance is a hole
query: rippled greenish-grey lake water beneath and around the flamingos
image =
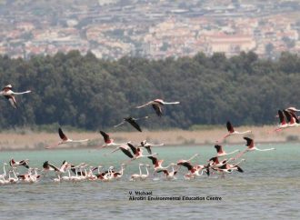
{"type": "MultiPolygon", "coordinates": [[[[205,175],[187,181],[182,168],[177,180],[163,178],[144,182],[129,182],[129,176],[138,173],[138,164],[150,163],[143,158],[127,165],[120,181],[53,183],[55,175],[47,175],[37,184],[0,185],[0,219],[299,219],[300,202],[300,144],[259,145],[275,147],[276,151],[251,152],[241,165],[244,174],[235,173],[220,178],[205,175]],[[197,201],[129,201],[129,192],[152,192],[153,196],[200,196],[197,201]],[[207,196],[221,197],[221,201],[206,200],[207,196]]],[[[243,145],[225,146],[230,152],[244,149],[243,145]]],[[[111,149],[110,149],[111,150],[111,149]]],[[[164,165],[187,159],[195,153],[195,163],[205,164],[215,155],[212,146],[154,147],[164,165]]],[[[115,165],[127,158],[122,152],[106,155],[108,149],[45,150],[1,152],[0,163],[30,159],[32,167],[42,167],[45,160],[60,165],[63,160],[77,164],[115,165]]],[[[24,170],[25,171],[25,170],[24,170]]],[[[22,170],[20,169],[21,173],[22,170]]],[[[2,167],[1,172],[2,173],[2,167]]]]}

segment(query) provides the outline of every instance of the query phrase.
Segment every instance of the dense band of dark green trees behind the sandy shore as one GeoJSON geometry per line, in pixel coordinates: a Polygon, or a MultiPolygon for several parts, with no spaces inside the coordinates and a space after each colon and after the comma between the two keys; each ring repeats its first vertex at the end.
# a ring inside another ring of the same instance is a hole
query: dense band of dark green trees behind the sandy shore
{"type": "Polygon", "coordinates": [[[254,53],[157,61],[106,61],[77,51],[30,60],[0,56],[0,85],[33,91],[16,96],[16,110],[0,99],[0,127],[59,124],[95,130],[112,127],[128,115],[150,115],[141,122],[148,129],[225,125],[227,120],[234,125],[271,124],[278,108],[299,107],[299,72],[300,58],[288,53],[276,61],[258,59],[254,53]],[[162,118],[150,106],[135,109],[155,98],[181,105],[166,106],[162,118]]]}

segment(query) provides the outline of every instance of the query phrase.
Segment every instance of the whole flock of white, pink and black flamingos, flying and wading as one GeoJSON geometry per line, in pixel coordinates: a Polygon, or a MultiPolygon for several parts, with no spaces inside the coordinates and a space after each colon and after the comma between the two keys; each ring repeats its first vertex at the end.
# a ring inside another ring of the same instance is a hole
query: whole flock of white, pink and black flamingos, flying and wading
{"type": "MultiPolygon", "coordinates": [[[[23,95],[30,93],[31,91],[25,91],[22,93],[15,93],[12,91],[12,85],[6,85],[3,90],[0,92],[0,95],[5,96],[5,98],[10,102],[10,104],[17,108],[17,104],[15,101],[15,95],[23,95]]],[[[145,106],[152,106],[155,110],[155,114],[158,116],[163,115],[163,108],[164,105],[178,105],[179,102],[171,102],[167,103],[162,99],[155,99],[146,103],[145,105],[137,106],[136,108],[143,108],[145,106]]],[[[299,112],[299,109],[295,107],[288,107],[285,110],[278,110],[279,118],[279,125],[275,127],[275,129],[271,132],[278,132],[286,128],[300,126],[299,124],[299,117],[296,115],[296,112],[299,112]]],[[[124,125],[128,123],[135,127],[135,129],[139,132],[142,132],[140,125],[137,124],[138,120],[147,119],[148,116],[141,117],[141,118],[134,118],[134,117],[125,117],[123,121],[115,125],[115,127],[124,125]]],[[[122,151],[125,156],[128,157],[128,161],[120,165],[120,170],[115,171],[114,166],[109,166],[108,168],[104,169],[103,166],[90,166],[86,163],[81,163],[79,165],[73,165],[64,161],[62,165],[56,166],[48,161],[45,161],[43,164],[43,168],[32,168],[29,166],[29,160],[21,160],[15,161],[15,159],[11,159],[8,163],[3,164],[3,174],[0,175],[0,185],[6,184],[15,184],[15,183],[36,183],[40,181],[47,173],[54,172],[55,177],[51,178],[53,182],[62,182],[62,181],[114,181],[117,179],[122,178],[125,172],[125,167],[129,165],[132,161],[138,160],[139,158],[146,157],[149,159],[149,163],[152,165],[145,165],[139,164],[139,173],[130,175],[130,181],[138,181],[138,180],[145,180],[150,177],[155,177],[159,175],[161,178],[165,178],[167,180],[176,179],[176,175],[180,168],[185,167],[187,173],[184,174],[185,179],[195,179],[201,175],[212,175],[218,174],[220,177],[224,177],[225,174],[232,174],[233,172],[240,172],[243,173],[243,169],[239,164],[245,161],[245,159],[241,158],[245,153],[252,152],[252,151],[270,151],[275,150],[275,148],[270,149],[259,149],[255,146],[254,140],[250,137],[244,136],[246,142],[246,148],[244,151],[235,150],[230,153],[226,153],[223,149],[223,146],[220,145],[225,138],[228,138],[231,135],[246,135],[252,133],[252,131],[244,131],[238,132],[235,130],[234,126],[228,121],[226,123],[228,133],[216,141],[215,150],[216,155],[209,160],[207,160],[207,164],[205,165],[196,165],[192,164],[192,160],[195,159],[198,155],[193,155],[188,159],[182,159],[177,161],[176,163],[171,163],[169,165],[163,165],[164,160],[158,159],[157,153],[152,152],[153,146],[161,146],[164,144],[151,144],[147,141],[142,141],[140,145],[134,145],[131,142],[127,143],[115,143],[114,139],[110,137],[110,135],[106,134],[104,131],[100,131],[100,134],[104,138],[104,145],[101,145],[100,148],[104,148],[107,146],[115,146],[115,149],[110,152],[110,154],[115,153],[116,151],[122,151]],[[144,150],[146,150],[147,154],[144,154],[144,150]],[[227,155],[235,155],[230,158],[224,158],[227,155]],[[223,158],[223,159],[222,159],[223,158]],[[9,167],[9,170],[6,171],[6,166],[9,167]],[[24,174],[18,173],[18,167],[27,169],[24,174]],[[150,175],[150,169],[154,171],[153,174],[150,175]],[[143,171],[142,171],[143,170],[143,171]]],[[[57,145],[67,145],[69,143],[85,143],[89,141],[88,139],[85,140],[72,140],[68,138],[61,128],[58,128],[58,135],[60,136],[60,141],[52,146],[47,146],[47,149],[54,148],[57,145]]],[[[155,177],[156,178],[156,177],[155,177]]]]}

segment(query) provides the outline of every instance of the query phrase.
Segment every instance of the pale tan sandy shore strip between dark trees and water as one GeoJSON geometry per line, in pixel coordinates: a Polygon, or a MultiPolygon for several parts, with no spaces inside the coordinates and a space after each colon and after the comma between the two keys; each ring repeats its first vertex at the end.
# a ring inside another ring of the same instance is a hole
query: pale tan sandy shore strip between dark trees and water
{"type": "MultiPolygon", "coordinates": [[[[255,143],[277,143],[291,142],[300,139],[300,128],[288,128],[281,132],[273,132],[275,126],[242,126],[236,127],[237,131],[251,130],[252,134],[247,134],[255,139],[255,143]]],[[[102,136],[97,132],[68,132],[65,134],[71,139],[85,139],[90,141],[87,144],[59,145],[59,148],[84,148],[96,147],[103,145],[102,136]]],[[[170,130],[170,131],[144,131],[139,132],[113,132],[108,133],[116,143],[124,143],[131,141],[138,144],[143,140],[165,145],[215,145],[215,141],[227,134],[225,128],[212,128],[206,130],[186,131],[186,130],[170,130]]],[[[48,145],[55,145],[60,141],[56,133],[35,133],[33,131],[25,131],[24,133],[1,133],[0,134],[0,149],[1,150],[16,150],[16,149],[44,149],[48,145]]],[[[221,145],[228,144],[245,144],[243,135],[234,135],[225,139],[221,145]]]]}

